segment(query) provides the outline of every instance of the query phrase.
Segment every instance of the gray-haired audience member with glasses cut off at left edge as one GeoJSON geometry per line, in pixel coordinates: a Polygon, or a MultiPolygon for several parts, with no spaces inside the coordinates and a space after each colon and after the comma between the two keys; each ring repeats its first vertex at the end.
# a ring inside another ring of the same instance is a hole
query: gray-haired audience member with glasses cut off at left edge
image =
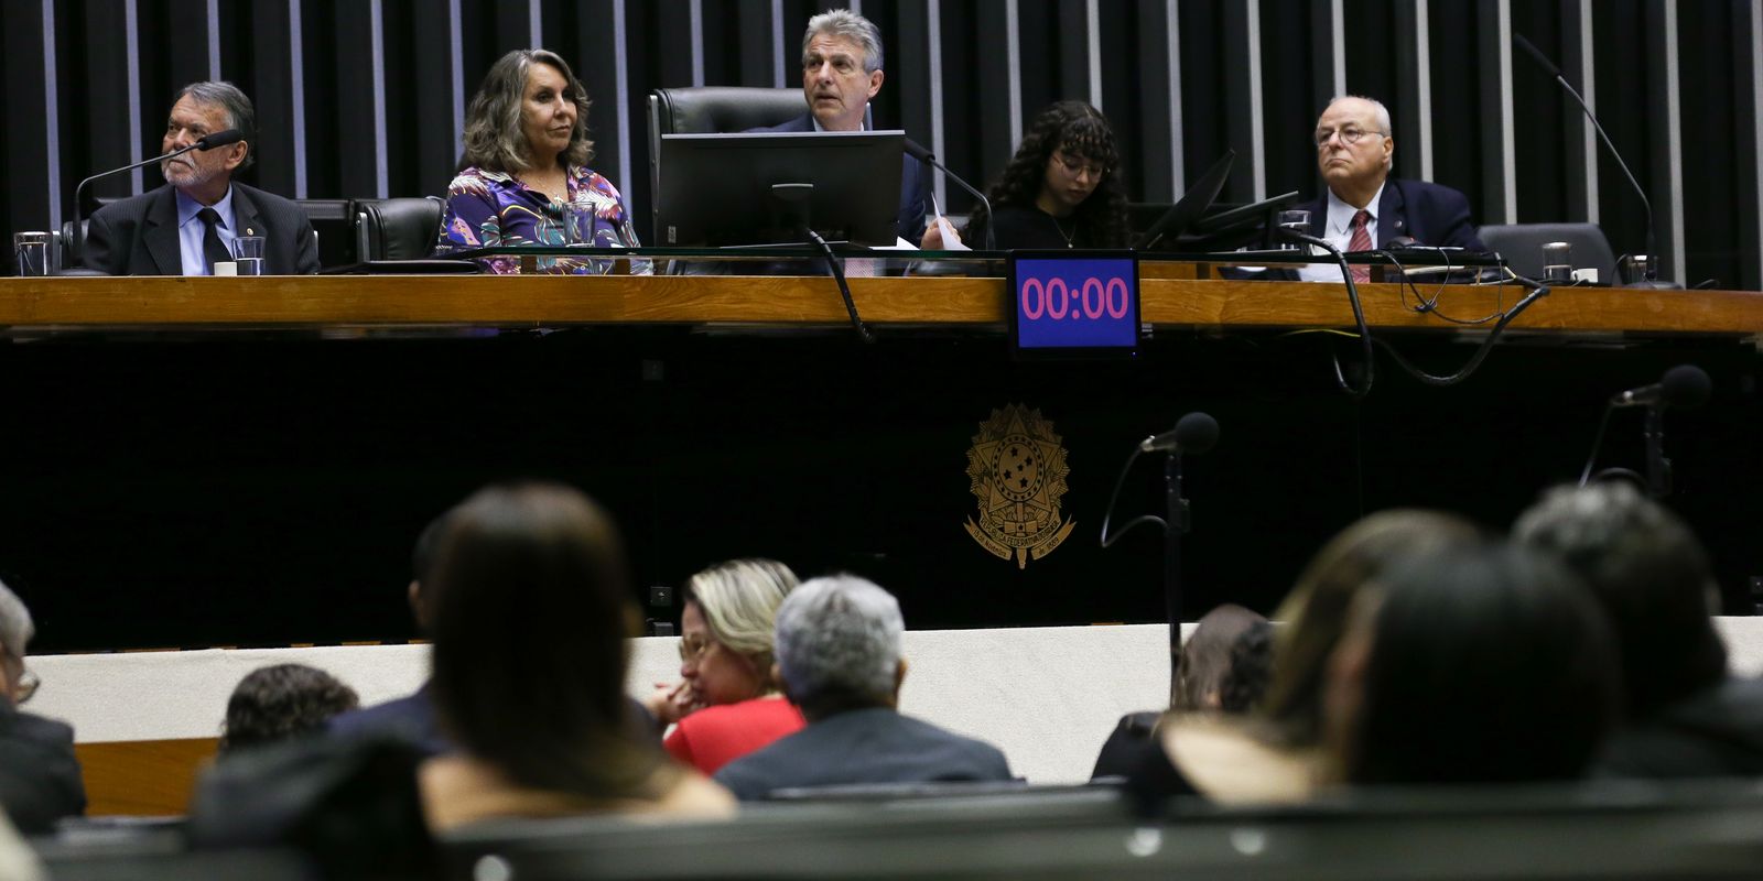
{"type": "Polygon", "coordinates": [[[74,729],[19,710],[37,692],[37,675],[25,670],[25,647],[35,634],[30,610],[0,585],[0,805],[26,835],[86,812],[74,729]]]}

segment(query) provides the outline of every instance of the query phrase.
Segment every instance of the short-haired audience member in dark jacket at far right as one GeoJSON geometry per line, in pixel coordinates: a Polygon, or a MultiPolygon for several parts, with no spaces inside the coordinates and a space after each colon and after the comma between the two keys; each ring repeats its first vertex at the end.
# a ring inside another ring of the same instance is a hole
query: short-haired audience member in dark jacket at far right
{"type": "Polygon", "coordinates": [[[1550,492],[1513,527],[1558,555],[1603,604],[1622,654],[1627,724],[1604,774],[1763,774],[1763,682],[1730,677],[1719,592],[1689,527],[1627,483],[1550,492]]]}

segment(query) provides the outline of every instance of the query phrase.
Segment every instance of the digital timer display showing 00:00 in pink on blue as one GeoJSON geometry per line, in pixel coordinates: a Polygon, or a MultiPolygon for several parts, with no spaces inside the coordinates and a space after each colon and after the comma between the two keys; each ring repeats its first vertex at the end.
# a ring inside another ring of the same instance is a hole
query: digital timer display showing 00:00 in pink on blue
{"type": "Polygon", "coordinates": [[[1017,354],[1130,354],[1139,345],[1139,263],[1118,252],[1014,252],[1017,354]]]}

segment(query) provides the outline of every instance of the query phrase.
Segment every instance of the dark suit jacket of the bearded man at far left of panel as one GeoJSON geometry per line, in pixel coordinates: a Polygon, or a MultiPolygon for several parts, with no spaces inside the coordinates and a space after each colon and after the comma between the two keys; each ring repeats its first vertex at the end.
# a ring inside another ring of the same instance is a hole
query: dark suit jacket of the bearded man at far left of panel
{"type": "MultiPolygon", "coordinates": [[[[312,222],[298,204],[233,181],[233,217],[238,234],[264,238],[263,257],[268,275],[319,271],[319,245],[312,238],[312,222]]],[[[85,263],[86,268],[104,275],[183,275],[178,199],[173,187],[167,183],[99,208],[86,226],[85,263]]]]}

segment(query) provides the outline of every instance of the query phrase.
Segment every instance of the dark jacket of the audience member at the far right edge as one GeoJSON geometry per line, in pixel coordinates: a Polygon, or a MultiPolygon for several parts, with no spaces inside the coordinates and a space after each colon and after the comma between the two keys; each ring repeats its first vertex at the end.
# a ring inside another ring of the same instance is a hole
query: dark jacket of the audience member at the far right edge
{"type": "Polygon", "coordinates": [[[1606,777],[1763,777],[1763,680],[1728,678],[1618,729],[1606,777]]]}

